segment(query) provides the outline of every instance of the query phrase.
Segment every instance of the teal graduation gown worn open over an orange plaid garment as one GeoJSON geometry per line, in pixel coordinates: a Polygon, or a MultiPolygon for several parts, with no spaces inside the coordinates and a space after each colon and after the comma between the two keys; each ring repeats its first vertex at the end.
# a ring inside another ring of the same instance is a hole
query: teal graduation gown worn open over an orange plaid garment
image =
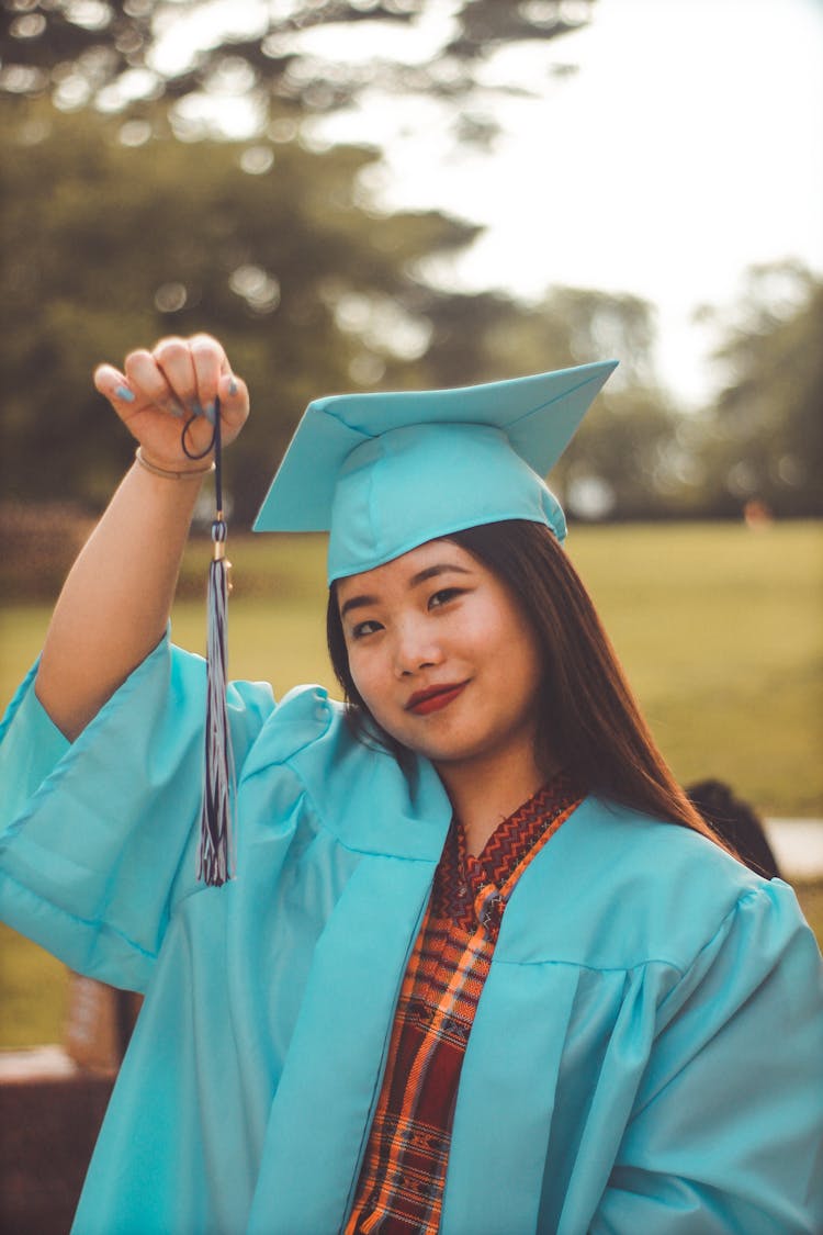
{"type": "MultiPolygon", "coordinates": [[[[195,879],[204,664],[164,641],[69,745],[0,736],[0,909],[143,990],[75,1235],[333,1235],[449,824],[301,688],[230,692],[237,879],[195,879]]],[[[443,1235],[819,1235],[823,977],[792,890],[586,799],[503,915],[443,1235]]]]}

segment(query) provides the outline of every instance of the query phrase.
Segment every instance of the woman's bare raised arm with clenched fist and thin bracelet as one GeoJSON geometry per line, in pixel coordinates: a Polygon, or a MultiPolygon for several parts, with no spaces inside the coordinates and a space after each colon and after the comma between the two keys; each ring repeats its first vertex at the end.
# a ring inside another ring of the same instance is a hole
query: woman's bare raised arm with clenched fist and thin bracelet
{"type": "Polygon", "coordinates": [[[158,642],[169,619],[180,558],[210,457],[204,450],[220,399],[223,445],[248,415],[248,391],[207,335],[164,338],[132,352],[125,372],[102,364],[95,385],[141,443],[159,475],[134,462],[74,563],[48,629],[37,698],[74,740],[158,642]]]}

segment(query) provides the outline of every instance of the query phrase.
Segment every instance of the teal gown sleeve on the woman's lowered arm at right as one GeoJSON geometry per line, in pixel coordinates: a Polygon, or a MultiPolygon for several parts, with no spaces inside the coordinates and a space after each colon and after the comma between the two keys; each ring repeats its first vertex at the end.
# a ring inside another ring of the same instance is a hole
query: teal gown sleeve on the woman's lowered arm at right
{"type": "Polygon", "coordinates": [[[823,973],[780,881],[738,902],[660,1007],[590,1230],[823,1231],[823,973]]]}

